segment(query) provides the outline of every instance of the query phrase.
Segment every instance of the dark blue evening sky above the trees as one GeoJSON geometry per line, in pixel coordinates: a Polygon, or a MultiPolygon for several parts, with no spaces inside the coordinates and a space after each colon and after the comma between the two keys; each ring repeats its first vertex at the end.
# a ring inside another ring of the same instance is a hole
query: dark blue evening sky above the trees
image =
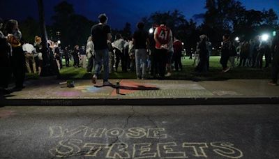
{"type": "MultiPolygon", "coordinates": [[[[53,8],[61,0],[45,0],[45,18],[51,24],[53,8]]],[[[135,24],[144,16],[149,16],[155,11],[167,11],[178,9],[186,15],[189,20],[193,15],[204,13],[205,0],[68,0],[73,4],[75,13],[84,15],[90,20],[97,21],[100,13],[106,13],[112,28],[123,28],[126,22],[135,24]]],[[[279,15],[279,0],[241,0],[243,6],[248,9],[268,10],[273,8],[279,15]]],[[[38,8],[36,0],[1,0],[0,17],[3,19],[24,20],[31,16],[38,19],[38,8]]],[[[198,22],[198,20],[197,20],[198,22]]],[[[201,22],[201,21],[199,21],[201,22]]]]}

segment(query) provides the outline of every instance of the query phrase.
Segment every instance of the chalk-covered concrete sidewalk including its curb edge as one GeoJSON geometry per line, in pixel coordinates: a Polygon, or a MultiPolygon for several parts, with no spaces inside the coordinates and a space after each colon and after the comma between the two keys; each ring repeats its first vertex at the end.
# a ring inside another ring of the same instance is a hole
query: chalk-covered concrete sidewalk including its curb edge
{"type": "Polygon", "coordinates": [[[279,103],[279,86],[268,79],[186,80],[111,79],[120,82],[120,94],[112,86],[75,80],[74,88],[46,77],[25,82],[26,88],[1,100],[1,105],[230,105],[279,103]]]}

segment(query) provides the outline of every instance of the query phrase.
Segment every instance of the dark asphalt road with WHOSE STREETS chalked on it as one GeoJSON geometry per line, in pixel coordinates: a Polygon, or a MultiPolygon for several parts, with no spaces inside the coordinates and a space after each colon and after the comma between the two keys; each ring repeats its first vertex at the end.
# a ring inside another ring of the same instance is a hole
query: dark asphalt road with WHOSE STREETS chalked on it
{"type": "Polygon", "coordinates": [[[0,158],[279,158],[279,105],[0,107],[0,158]]]}

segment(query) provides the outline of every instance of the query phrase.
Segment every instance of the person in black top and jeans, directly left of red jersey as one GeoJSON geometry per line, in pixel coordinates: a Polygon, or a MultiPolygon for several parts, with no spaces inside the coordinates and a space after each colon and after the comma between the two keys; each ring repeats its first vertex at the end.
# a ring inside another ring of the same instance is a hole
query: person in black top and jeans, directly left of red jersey
{"type": "Polygon", "coordinates": [[[146,78],[146,43],[149,44],[149,38],[147,31],[144,31],[144,23],[137,23],[137,31],[133,34],[133,43],[135,46],[135,70],[137,73],[137,79],[146,78]],[[140,68],[142,64],[142,70],[140,68]]]}

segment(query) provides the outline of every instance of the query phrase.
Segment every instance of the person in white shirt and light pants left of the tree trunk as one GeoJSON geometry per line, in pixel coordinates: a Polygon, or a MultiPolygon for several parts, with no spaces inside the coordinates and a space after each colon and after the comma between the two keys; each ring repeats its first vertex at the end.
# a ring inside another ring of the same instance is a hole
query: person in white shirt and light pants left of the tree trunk
{"type": "Polygon", "coordinates": [[[30,61],[31,61],[31,64],[32,64],[33,72],[36,73],[37,72],[36,63],[35,63],[35,59],[34,59],[34,56],[33,56],[33,53],[35,52],[35,48],[31,44],[25,43],[22,46],[22,50],[24,51],[25,65],[27,67],[28,73],[31,73],[30,61]]]}

